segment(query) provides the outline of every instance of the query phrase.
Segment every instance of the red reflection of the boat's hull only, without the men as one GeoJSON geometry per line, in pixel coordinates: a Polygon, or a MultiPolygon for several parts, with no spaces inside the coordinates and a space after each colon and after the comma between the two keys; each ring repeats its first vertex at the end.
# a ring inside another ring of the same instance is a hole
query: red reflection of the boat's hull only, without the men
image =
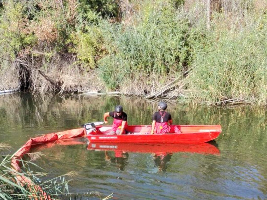
{"type": "Polygon", "coordinates": [[[219,149],[210,143],[198,143],[198,144],[133,144],[133,143],[89,143],[87,150],[113,150],[116,152],[137,152],[137,153],[156,153],[167,154],[175,152],[189,152],[199,154],[215,154],[219,155],[219,149]]]}

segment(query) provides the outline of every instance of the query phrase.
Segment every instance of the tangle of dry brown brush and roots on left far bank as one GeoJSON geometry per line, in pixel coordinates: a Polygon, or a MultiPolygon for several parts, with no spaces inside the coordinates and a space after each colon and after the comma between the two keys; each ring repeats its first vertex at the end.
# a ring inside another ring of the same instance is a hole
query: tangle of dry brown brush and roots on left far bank
{"type": "MultiPolygon", "coordinates": [[[[21,53],[15,63],[19,69],[22,84],[28,84],[33,91],[40,91],[41,94],[58,91],[63,92],[81,92],[83,86],[88,89],[96,89],[96,77],[92,75],[90,82],[87,83],[89,73],[78,66],[74,55],[61,55],[54,53],[49,55],[42,53],[40,50],[34,50],[33,54],[21,53]]],[[[101,83],[101,81],[98,81],[101,83]]],[[[100,84],[98,84],[100,85],[100,84]]],[[[104,84],[103,84],[104,85],[104,84]]],[[[100,87],[102,90],[103,87],[100,87]]]]}

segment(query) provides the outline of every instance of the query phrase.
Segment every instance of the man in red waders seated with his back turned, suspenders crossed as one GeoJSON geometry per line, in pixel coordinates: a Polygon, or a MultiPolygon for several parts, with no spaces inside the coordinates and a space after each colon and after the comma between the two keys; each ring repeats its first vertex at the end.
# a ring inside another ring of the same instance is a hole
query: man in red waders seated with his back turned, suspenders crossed
{"type": "Polygon", "coordinates": [[[167,103],[159,102],[158,112],[155,112],[152,117],[151,134],[154,134],[156,126],[156,134],[164,133],[181,133],[180,129],[172,125],[171,114],[166,112],[167,103]]]}

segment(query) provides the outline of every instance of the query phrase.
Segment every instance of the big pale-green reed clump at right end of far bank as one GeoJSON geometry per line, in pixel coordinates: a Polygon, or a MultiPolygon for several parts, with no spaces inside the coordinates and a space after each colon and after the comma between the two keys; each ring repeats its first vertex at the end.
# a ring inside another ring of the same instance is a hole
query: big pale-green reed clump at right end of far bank
{"type": "Polygon", "coordinates": [[[264,21],[264,18],[258,19],[240,32],[210,34],[210,43],[197,54],[188,79],[194,99],[210,103],[226,99],[266,102],[267,27],[264,21]]]}

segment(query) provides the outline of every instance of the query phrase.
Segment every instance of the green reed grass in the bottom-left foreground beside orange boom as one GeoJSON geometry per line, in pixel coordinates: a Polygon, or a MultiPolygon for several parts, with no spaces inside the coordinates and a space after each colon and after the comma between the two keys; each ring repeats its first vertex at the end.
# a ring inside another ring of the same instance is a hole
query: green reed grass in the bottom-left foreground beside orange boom
{"type": "MultiPolygon", "coordinates": [[[[8,145],[0,143],[0,150],[9,148],[8,145]]],[[[33,159],[40,157],[40,153],[31,153],[30,161],[21,162],[22,171],[16,171],[11,167],[13,155],[2,155],[0,158],[0,199],[14,200],[14,199],[71,199],[72,195],[69,193],[68,183],[70,178],[75,177],[74,172],[58,176],[53,179],[42,182],[38,176],[44,176],[46,173],[35,173],[30,170],[30,165],[35,165],[31,162],[33,159]],[[36,154],[36,155],[35,155],[36,154]],[[31,183],[20,183],[17,177],[29,178],[31,183]]],[[[36,166],[36,165],[35,165],[36,166]]],[[[77,194],[75,194],[77,195],[77,194]]],[[[91,192],[81,194],[84,197],[99,197],[98,192],[91,192]]],[[[112,198],[112,194],[104,199],[112,198]]]]}

